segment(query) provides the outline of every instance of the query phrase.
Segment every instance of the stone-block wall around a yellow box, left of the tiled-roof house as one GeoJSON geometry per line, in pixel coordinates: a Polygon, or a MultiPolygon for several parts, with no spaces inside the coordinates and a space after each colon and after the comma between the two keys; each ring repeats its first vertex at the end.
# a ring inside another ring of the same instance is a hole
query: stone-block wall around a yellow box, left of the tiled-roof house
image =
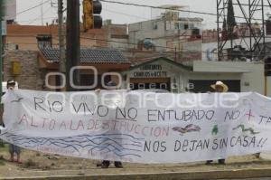
{"type": "Polygon", "coordinates": [[[42,90],[42,71],[39,68],[38,52],[35,51],[8,51],[4,58],[4,81],[14,79],[19,88],[25,90],[42,90]],[[21,74],[14,77],[12,62],[21,62],[21,74]]]}

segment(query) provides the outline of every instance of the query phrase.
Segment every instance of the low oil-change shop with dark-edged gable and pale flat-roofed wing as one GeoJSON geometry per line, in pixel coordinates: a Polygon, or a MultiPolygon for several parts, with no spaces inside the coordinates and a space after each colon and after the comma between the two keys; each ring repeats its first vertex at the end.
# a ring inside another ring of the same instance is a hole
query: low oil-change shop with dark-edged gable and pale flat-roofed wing
{"type": "Polygon", "coordinates": [[[257,91],[265,94],[264,64],[261,62],[193,62],[184,66],[160,57],[131,66],[123,72],[131,90],[168,90],[172,92],[208,92],[210,85],[223,81],[229,91],[257,91]]]}

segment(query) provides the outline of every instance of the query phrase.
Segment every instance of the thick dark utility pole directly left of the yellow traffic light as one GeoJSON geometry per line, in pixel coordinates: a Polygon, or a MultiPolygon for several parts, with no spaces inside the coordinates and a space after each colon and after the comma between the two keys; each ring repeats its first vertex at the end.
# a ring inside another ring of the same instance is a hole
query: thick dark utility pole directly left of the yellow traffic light
{"type": "Polygon", "coordinates": [[[70,77],[70,69],[79,66],[79,0],[67,0],[67,24],[66,24],[66,73],[67,91],[74,90],[70,86],[70,79],[75,85],[79,85],[79,71],[74,71],[70,77]]]}

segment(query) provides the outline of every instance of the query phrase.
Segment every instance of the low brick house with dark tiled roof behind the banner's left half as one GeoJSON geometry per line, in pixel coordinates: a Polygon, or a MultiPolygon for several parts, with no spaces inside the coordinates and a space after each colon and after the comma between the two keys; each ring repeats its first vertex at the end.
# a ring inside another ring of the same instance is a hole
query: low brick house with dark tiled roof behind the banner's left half
{"type": "MultiPolygon", "coordinates": [[[[130,68],[130,62],[124,55],[111,49],[81,49],[80,65],[92,66],[98,70],[98,85],[93,89],[102,88],[100,82],[105,72],[126,71],[130,68]]],[[[4,67],[4,80],[18,81],[21,89],[52,90],[45,86],[45,77],[49,72],[59,71],[59,50],[48,48],[41,51],[8,51],[4,59],[4,67]],[[14,72],[14,62],[20,67],[19,71],[14,72]]],[[[112,79],[116,77],[108,75],[104,80],[111,81],[112,79]]],[[[93,82],[93,71],[80,71],[80,85],[89,86],[93,82]]],[[[56,85],[56,76],[51,76],[48,83],[51,86],[56,85]]]]}

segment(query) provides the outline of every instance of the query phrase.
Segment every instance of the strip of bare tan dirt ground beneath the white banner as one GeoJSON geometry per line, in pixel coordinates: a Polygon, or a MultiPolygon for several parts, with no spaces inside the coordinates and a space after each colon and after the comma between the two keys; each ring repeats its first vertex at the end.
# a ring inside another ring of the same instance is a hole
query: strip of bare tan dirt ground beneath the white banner
{"type": "Polygon", "coordinates": [[[23,149],[23,164],[9,162],[7,145],[0,147],[0,177],[34,175],[102,175],[107,174],[142,174],[163,172],[199,172],[240,168],[270,168],[271,161],[256,156],[235,156],[227,159],[225,166],[214,163],[205,166],[204,162],[192,164],[142,165],[124,163],[123,169],[111,165],[108,169],[97,166],[99,161],[66,156],[54,156],[23,149]]]}

